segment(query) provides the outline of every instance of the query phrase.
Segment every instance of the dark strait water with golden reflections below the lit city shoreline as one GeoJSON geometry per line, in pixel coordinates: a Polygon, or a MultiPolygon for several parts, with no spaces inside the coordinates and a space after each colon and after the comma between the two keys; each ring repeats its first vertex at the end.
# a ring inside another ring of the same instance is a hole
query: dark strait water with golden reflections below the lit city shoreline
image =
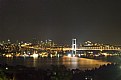
{"type": "Polygon", "coordinates": [[[8,65],[24,65],[27,67],[47,69],[51,65],[65,65],[69,69],[92,69],[98,68],[100,65],[108,64],[101,60],[77,58],[77,57],[62,57],[62,58],[29,58],[29,57],[15,57],[15,58],[0,58],[1,64],[8,65]]]}

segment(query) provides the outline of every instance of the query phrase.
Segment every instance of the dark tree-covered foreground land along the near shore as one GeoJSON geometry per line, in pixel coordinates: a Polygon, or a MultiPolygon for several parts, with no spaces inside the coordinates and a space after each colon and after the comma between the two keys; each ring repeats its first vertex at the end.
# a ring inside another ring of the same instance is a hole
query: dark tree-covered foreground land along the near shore
{"type": "Polygon", "coordinates": [[[0,65],[0,80],[121,80],[119,64],[108,64],[98,69],[67,69],[52,65],[50,69],[0,65]]]}

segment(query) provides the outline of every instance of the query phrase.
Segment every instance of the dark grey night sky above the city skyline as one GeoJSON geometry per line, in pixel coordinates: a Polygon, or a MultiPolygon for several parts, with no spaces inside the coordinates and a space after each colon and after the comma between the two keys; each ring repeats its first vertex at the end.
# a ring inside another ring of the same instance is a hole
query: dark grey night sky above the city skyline
{"type": "Polygon", "coordinates": [[[121,44],[120,0],[0,0],[0,40],[121,44]]]}

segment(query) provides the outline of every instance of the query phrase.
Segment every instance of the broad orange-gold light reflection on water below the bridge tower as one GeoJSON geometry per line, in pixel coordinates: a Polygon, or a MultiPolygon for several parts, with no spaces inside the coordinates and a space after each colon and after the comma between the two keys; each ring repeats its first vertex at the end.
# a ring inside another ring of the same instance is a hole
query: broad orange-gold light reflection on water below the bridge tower
{"type": "Polygon", "coordinates": [[[63,64],[70,68],[70,69],[92,69],[98,68],[100,65],[110,64],[110,62],[104,62],[101,60],[93,60],[93,59],[86,59],[86,58],[77,58],[77,57],[65,57],[63,58],[63,64]]]}

